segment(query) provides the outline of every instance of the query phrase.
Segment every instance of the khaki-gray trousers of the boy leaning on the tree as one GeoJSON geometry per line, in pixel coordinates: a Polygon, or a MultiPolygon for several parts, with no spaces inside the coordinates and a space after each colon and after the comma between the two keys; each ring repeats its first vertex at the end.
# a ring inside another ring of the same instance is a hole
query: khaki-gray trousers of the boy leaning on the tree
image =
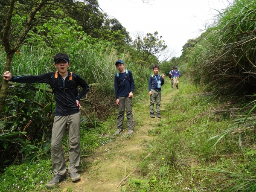
{"type": "Polygon", "coordinates": [[[55,116],[52,127],[51,158],[54,175],[65,175],[66,163],[62,148],[62,139],[68,131],[69,136],[69,160],[68,172],[79,170],[80,163],[80,112],[72,115],[55,116]]]}

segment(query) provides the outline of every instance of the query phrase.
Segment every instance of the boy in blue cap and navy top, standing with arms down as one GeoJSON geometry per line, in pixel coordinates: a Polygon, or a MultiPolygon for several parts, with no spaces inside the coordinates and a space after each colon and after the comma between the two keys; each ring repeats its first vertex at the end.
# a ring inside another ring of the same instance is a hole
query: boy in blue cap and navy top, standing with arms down
{"type": "Polygon", "coordinates": [[[125,64],[122,60],[116,61],[116,69],[119,70],[116,73],[115,82],[115,93],[116,93],[116,104],[119,105],[119,113],[117,115],[116,127],[117,131],[115,134],[120,134],[123,130],[123,121],[126,108],[128,135],[134,134],[134,121],[132,116],[132,96],[134,92],[134,79],[131,71],[124,69],[125,64]]]}

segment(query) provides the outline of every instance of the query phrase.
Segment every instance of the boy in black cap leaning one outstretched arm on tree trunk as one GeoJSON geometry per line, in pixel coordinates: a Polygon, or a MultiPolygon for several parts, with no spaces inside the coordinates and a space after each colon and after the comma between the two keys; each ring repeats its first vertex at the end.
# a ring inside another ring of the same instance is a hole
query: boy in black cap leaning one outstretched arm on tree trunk
{"type": "Polygon", "coordinates": [[[9,71],[3,74],[3,79],[17,83],[48,83],[55,96],[55,117],[52,127],[51,158],[54,177],[46,184],[47,188],[56,186],[66,179],[66,163],[62,149],[62,138],[67,129],[69,134],[68,173],[72,181],[80,179],[77,173],[80,163],[80,108],[79,100],[89,91],[89,85],[76,73],[67,68],[70,66],[69,57],[65,53],[58,53],[54,57],[56,72],[39,76],[12,76],[9,71]],[[82,87],[78,95],[77,86],[82,87]]]}

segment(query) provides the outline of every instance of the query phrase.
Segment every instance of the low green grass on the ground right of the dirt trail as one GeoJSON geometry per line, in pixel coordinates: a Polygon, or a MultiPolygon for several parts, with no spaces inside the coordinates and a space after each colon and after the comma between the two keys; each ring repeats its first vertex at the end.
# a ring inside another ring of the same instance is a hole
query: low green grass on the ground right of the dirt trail
{"type": "MultiPolygon", "coordinates": [[[[145,156],[149,152],[151,156],[137,166],[139,176],[131,179],[150,180],[146,186],[140,186],[147,192],[239,191],[243,187],[253,190],[255,150],[254,141],[249,138],[255,134],[247,133],[243,150],[236,132],[212,147],[206,141],[232,127],[233,117],[209,110],[225,108],[228,101],[200,93],[185,79],[180,81],[179,88],[161,112],[161,121],[148,130],[154,140],[148,143],[145,156]],[[248,151],[250,155],[244,155],[248,151]]],[[[171,90],[170,84],[166,84],[163,92],[171,90]]],[[[121,189],[134,190],[138,187],[131,180],[121,189]]]]}

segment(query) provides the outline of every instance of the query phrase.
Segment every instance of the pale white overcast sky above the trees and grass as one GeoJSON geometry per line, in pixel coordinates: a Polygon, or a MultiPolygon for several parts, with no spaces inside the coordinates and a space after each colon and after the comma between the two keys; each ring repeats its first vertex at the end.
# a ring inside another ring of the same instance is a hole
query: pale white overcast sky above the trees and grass
{"type": "Polygon", "coordinates": [[[207,23],[232,0],[98,0],[99,6],[115,17],[132,37],[134,32],[154,33],[163,36],[168,47],[181,55],[182,46],[197,38],[207,23]]]}

